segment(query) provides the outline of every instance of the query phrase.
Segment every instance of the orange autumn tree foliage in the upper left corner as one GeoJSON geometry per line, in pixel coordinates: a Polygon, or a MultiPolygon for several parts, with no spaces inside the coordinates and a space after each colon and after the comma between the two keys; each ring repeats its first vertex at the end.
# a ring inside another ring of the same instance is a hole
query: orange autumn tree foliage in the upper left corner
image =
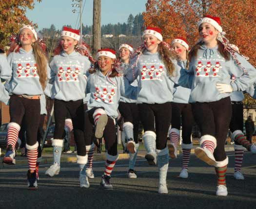
{"type": "Polygon", "coordinates": [[[5,46],[9,42],[9,36],[17,33],[21,24],[32,23],[25,14],[27,9],[34,8],[35,1],[41,0],[1,0],[0,46],[5,46]]]}

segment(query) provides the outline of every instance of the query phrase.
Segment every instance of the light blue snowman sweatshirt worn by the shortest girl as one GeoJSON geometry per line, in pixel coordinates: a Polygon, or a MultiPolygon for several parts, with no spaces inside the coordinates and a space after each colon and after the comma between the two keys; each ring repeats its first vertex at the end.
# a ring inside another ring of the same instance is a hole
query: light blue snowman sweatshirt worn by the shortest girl
{"type": "Polygon", "coordinates": [[[117,118],[120,96],[135,99],[137,87],[129,85],[128,80],[123,76],[110,78],[97,70],[88,77],[87,92],[91,93],[87,104],[88,110],[94,107],[104,107],[108,116],[117,118]]]}

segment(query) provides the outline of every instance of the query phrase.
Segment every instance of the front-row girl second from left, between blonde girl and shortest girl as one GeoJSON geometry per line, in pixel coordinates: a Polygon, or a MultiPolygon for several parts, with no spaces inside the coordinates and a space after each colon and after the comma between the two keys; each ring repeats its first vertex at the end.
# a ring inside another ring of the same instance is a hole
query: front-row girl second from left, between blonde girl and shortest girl
{"type": "MultiPolygon", "coordinates": [[[[87,138],[84,135],[83,98],[85,98],[86,74],[90,68],[90,61],[88,57],[76,50],[79,39],[79,30],[63,27],[61,41],[55,51],[57,55],[50,62],[51,79],[49,83],[53,85],[51,92],[52,99],[55,99],[55,131],[52,140],[54,163],[45,174],[49,176],[59,174],[65,119],[70,114],[78,148],[77,163],[80,168],[80,187],[89,187],[88,178],[85,174],[88,156],[86,155],[87,138]]],[[[87,143],[90,142],[91,139],[88,139],[87,143]]]]}

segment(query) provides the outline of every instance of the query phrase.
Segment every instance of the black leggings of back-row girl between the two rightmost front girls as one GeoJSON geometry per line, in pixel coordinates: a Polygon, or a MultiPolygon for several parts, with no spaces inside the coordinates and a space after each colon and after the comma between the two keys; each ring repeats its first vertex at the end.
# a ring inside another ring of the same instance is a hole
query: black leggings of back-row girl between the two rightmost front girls
{"type": "Polygon", "coordinates": [[[193,124],[191,104],[172,103],[172,128],[180,130],[180,115],[182,119],[182,142],[191,144],[193,124]]]}

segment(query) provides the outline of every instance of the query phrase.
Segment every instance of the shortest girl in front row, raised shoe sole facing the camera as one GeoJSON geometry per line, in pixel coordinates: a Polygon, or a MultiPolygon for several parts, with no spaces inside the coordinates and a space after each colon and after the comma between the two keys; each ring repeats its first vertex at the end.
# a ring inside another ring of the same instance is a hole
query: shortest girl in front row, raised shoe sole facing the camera
{"type": "Polygon", "coordinates": [[[118,74],[115,65],[116,52],[102,49],[97,53],[97,63],[88,77],[87,91],[88,116],[91,126],[95,125],[95,137],[104,137],[106,148],[106,165],[100,185],[112,190],[111,173],[118,159],[115,119],[118,117],[120,95],[136,99],[137,88],[130,86],[128,81],[118,74]]]}

